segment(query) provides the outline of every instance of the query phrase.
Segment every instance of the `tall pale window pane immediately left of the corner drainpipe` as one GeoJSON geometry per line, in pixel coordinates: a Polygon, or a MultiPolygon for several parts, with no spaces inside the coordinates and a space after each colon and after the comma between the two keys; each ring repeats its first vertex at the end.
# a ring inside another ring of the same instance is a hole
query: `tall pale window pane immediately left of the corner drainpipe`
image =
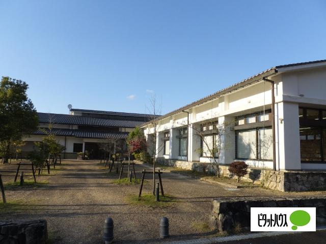
{"type": "Polygon", "coordinates": [[[273,160],[273,130],[271,128],[258,130],[258,144],[259,159],[273,160]]]}

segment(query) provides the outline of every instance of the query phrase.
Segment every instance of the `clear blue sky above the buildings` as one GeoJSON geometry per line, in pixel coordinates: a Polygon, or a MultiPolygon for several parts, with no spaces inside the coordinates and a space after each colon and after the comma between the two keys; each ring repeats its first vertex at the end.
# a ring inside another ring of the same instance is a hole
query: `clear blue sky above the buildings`
{"type": "Polygon", "coordinates": [[[326,59],[325,1],[4,1],[0,76],[39,112],[167,113],[267,68],[326,59]]]}

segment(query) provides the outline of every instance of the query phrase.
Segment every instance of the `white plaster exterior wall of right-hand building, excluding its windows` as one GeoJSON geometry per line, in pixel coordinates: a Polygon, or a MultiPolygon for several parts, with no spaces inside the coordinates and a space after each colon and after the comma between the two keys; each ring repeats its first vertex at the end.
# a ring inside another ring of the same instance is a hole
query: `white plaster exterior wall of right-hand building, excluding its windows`
{"type": "MultiPolygon", "coordinates": [[[[275,125],[276,125],[276,168],[280,170],[326,169],[326,164],[301,163],[298,107],[326,109],[326,68],[312,69],[280,68],[279,73],[269,79],[275,81],[275,125]],[[293,70],[291,70],[293,69],[293,70]],[[303,96],[300,96],[303,95],[303,96]]],[[[189,124],[207,119],[231,121],[237,115],[262,111],[271,108],[271,85],[267,81],[249,85],[204,104],[192,107],[189,111],[189,124]]],[[[179,141],[175,136],[177,128],[187,124],[187,114],[180,112],[162,119],[158,131],[170,129],[170,159],[178,159],[179,141]]],[[[143,127],[145,134],[153,130],[143,127]]],[[[196,149],[200,148],[200,138],[188,129],[188,161],[210,162],[200,158],[196,149]]],[[[221,164],[230,164],[235,159],[235,132],[228,129],[223,138],[225,150],[220,156],[221,164]]],[[[273,168],[273,161],[246,160],[249,165],[273,168]]]]}

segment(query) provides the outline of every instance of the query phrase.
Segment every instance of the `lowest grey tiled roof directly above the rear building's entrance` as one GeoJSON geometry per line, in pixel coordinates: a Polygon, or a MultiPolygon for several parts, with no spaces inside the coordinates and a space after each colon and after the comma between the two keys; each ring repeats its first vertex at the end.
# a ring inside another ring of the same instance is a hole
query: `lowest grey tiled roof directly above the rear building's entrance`
{"type": "MultiPolygon", "coordinates": [[[[34,135],[47,135],[48,130],[37,130],[34,135]]],[[[52,129],[51,133],[56,136],[74,136],[80,138],[97,138],[97,139],[125,139],[128,136],[128,132],[107,132],[107,131],[84,131],[84,130],[72,130],[72,129],[52,129]]]]}

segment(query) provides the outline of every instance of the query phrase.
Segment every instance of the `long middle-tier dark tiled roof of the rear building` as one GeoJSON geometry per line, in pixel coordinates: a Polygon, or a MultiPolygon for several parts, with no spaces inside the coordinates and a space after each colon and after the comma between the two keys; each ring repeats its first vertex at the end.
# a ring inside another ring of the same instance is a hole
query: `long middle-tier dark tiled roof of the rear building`
{"type": "Polygon", "coordinates": [[[105,127],[127,127],[140,126],[144,121],[122,120],[112,118],[97,118],[91,116],[79,116],[58,113],[38,113],[39,123],[53,123],[79,126],[105,126],[105,127]]]}

